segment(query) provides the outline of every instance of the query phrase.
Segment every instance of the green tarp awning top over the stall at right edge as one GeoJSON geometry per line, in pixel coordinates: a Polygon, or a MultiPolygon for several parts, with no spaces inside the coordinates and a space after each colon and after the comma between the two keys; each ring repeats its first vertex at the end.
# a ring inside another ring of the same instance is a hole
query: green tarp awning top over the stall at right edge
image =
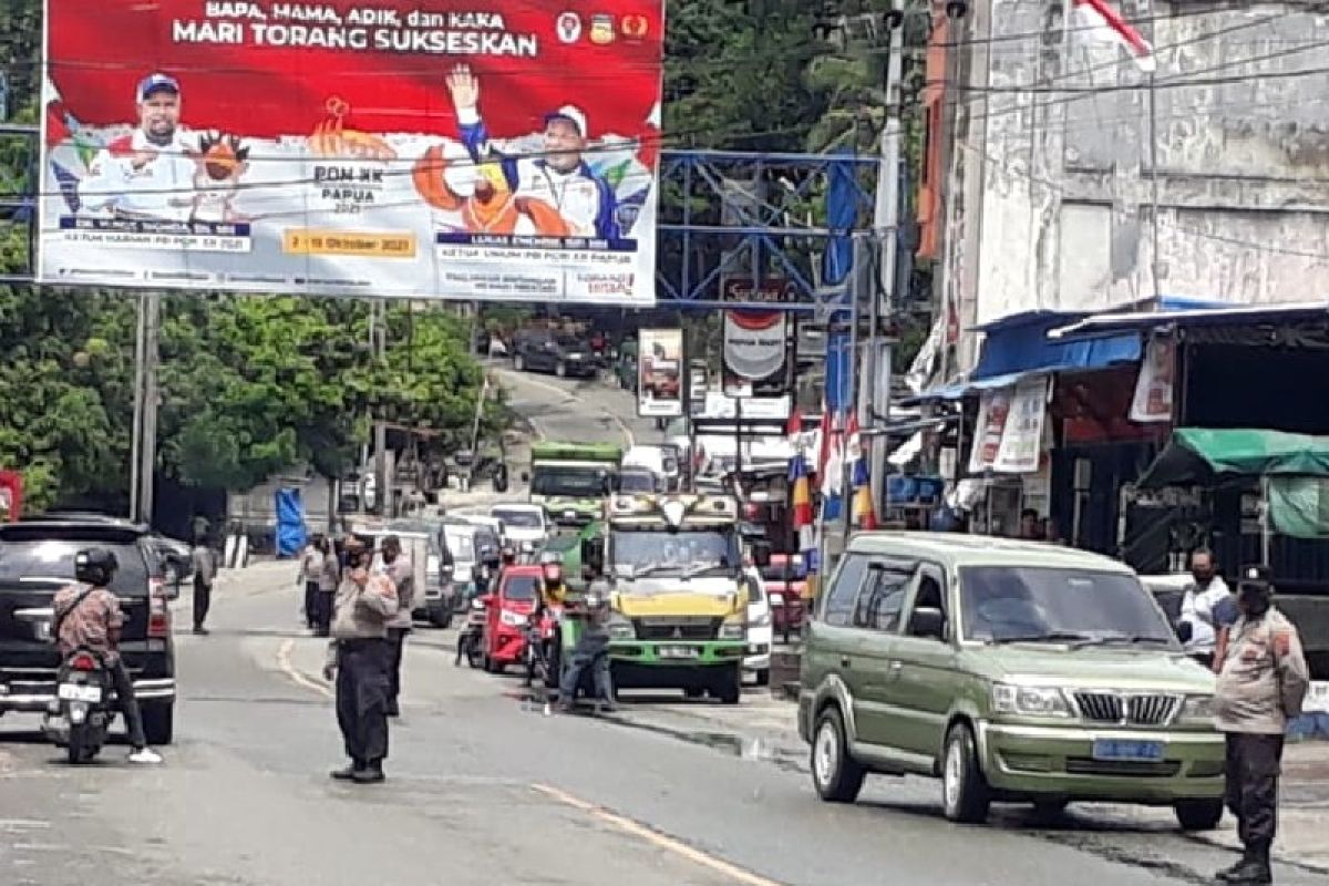
{"type": "Polygon", "coordinates": [[[1329,437],[1252,428],[1179,428],[1140,489],[1209,486],[1236,477],[1329,477],[1329,437]]]}

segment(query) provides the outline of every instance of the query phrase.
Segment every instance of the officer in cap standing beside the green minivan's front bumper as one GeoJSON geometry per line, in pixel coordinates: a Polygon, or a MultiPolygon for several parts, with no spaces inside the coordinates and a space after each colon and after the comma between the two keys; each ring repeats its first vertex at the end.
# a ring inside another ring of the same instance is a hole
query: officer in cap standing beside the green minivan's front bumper
{"type": "Polygon", "coordinates": [[[1288,721],[1310,685],[1297,628],[1271,603],[1265,566],[1241,570],[1241,616],[1228,632],[1213,695],[1213,723],[1227,739],[1227,805],[1237,817],[1241,861],[1219,871],[1225,883],[1273,882],[1269,849],[1278,818],[1278,772],[1288,721]]]}

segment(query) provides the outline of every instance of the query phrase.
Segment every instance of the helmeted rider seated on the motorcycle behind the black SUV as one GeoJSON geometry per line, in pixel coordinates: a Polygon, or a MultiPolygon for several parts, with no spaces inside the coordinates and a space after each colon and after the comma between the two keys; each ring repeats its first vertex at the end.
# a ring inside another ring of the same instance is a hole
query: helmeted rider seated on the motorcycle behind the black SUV
{"type": "Polygon", "coordinates": [[[89,547],[74,554],[74,583],[66,584],[52,603],[56,640],[60,655],[68,658],[84,648],[101,658],[116,685],[116,697],[129,729],[130,762],[161,762],[161,756],[148,747],[144,715],[134,696],[134,681],[120,656],[120,631],[125,614],[120,599],[110,590],[120,563],[104,547],[89,547]]]}

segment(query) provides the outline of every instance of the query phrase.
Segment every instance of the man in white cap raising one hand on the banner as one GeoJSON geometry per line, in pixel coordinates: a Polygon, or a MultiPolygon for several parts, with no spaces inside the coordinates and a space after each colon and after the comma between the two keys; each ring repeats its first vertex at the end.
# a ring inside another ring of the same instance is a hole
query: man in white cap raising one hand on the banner
{"type": "Polygon", "coordinates": [[[571,105],[545,114],[544,151],[508,153],[489,141],[480,117],[480,82],[466,65],[448,74],[461,141],[474,162],[500,159],[508,186],[518,198],[538,199],[558,210],[573,236],[618,239],[614,189],[583,158],[586,114],[571,105]]]}

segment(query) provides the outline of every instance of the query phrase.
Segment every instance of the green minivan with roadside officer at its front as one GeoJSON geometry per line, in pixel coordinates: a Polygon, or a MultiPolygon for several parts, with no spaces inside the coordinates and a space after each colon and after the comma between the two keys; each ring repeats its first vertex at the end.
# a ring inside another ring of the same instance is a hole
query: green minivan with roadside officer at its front
{"type": "Polygon", "coordinates": [[[799,733],[825,801],[853,802],[872,772],[940,777],[952,821],[993,801],[1167,805],[1185,830],[1223,818],[1215,677],[1116,561],[863,533],[807,631],[799,733]]]}

